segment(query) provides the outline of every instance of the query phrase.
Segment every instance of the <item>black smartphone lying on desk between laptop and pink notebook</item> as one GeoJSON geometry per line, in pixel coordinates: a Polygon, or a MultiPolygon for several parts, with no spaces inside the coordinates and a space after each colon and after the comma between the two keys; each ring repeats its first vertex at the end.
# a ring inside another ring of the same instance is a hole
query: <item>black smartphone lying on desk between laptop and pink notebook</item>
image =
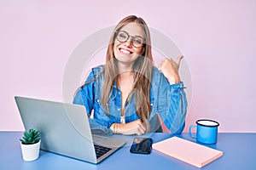
{"type": "Polygon", "coordinates": [[[137,154],[150,154],[153,140],[151,138],[135,138],[131,145],[130,152],[137,154]]]}

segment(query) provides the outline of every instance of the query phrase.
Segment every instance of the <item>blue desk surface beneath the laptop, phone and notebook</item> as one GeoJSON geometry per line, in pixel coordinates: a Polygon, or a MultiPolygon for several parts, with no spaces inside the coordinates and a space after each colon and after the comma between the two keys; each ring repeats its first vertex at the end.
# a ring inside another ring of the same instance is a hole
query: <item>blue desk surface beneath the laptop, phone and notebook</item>
{"type": "MultiPolygon", "coordinates": [[[[127,144],[109,156],[105,161],[95,165],[86,161],[79,161],[67,156],[56,155],[40,150],[40,156],[36,161],[23,161],[20,150],[20,132],[0,132],[0,169],[200,169],[179,161],[171,156],[166,156],[156,150],[150,155],[130,153],[130,144],[135,136],[125,136],[127,144]]],[[[154,142],[167,139],[173,135],[168,133],[154,133],[151,138],[154,142]]],[[[183,139],[191,139],[188,133],[177,135],[183,139]]],[[[122,138],[119,136],[119,138],[122,138]]],[[[224,156],[212,161],[201,169],[256,169],[256,133],[218,133],[217,144],[206,144],[208,147],[223,150],[224,156]]]]}

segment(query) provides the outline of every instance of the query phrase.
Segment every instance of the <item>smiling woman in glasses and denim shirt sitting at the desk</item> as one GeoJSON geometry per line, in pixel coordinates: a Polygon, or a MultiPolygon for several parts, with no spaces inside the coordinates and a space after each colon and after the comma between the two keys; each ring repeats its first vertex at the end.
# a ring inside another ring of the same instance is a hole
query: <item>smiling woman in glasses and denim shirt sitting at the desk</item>
{"type": "Polygon", "coordinates": [[[141,135],[161,127],[181,133],[187,109],[178,75],[182,58],[166,58],[155,68],[148,26],[137,16],[125,17],[113,30],[106,64],[92,69],[73,103],[84,105],[88,116],[94,111],[95,133],[141,135]]]}

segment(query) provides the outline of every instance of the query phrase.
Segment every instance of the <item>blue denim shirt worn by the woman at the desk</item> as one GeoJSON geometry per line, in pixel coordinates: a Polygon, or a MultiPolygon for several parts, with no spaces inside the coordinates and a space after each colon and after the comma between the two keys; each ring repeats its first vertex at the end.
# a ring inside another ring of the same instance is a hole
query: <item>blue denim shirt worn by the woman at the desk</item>
{"type": "MultiPolygon", "coordinates": [[[[109,115],[104,112],[101,105],[104,74],[100,75],[103,69],[104,67],[100,65],[90,71],[85,83],[95,78],[96,80],[79,88],[73,99],[73,104],[85,106],[92,133],[112,134],[113,132],[109,127],[113,122],[120,123],[122,98],[119,87],[114,84],[107,104],[109,115]],[[90,118],[92,111],[94,111],[94,117],[90,118]]],[[[150,132],[160,131],[157,114],[171,133],[181,133],[183,131],[187,111],[187,99],[183,91],[183,82],[170,85],[166,77],[154,67],[149,100],[151,105],[151,113],[148,116],[150,132]]],[[[125,123],[138,119],[135,106],[135,99],[129,98],[125,104],[125,123]]]]}

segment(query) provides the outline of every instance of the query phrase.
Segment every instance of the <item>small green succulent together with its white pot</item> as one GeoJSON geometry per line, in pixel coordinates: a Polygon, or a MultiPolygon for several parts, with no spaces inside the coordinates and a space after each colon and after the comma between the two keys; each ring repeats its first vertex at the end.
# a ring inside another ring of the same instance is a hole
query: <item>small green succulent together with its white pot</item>
{"type": "Polygon", "coordinates": [[[40,150],[40,134],[37,129],[29,129],[24,132],[20,139],[21,152],[24,161],[34,161],[38,159],[40,150]]]}

